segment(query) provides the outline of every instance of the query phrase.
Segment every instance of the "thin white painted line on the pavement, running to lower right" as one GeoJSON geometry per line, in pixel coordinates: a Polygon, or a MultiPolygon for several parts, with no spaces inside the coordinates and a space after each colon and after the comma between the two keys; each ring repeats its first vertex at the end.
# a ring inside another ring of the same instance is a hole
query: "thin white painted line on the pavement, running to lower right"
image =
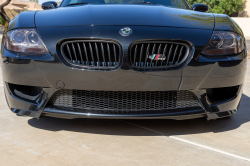
{"type": "Polygon", "coordinates": [[[250,162],[249,158],[245,158],[245,157],[242,157],[242,156],[239,156],[239,155],[228,153],[228,152],[225,152],[223,150],[212,148],[212,147],[209,147],[209,146],[206,146],[206,145],[198,144],[198,143],[195,143],[195,142],[183,139],[183,138],[178,138],[176,136],[169,136],[169,135],[167,135],[165,133],[155,131],[155,130],[152,130],[152,129],[149,129],[149,128],[146,128],[146,127],[142,127],[142,126],[139,126],[139,125],[136,125],[136,124],[133,124],[133,123],[129,123],[129,122],[126,122],[126,121],[123,121],[123,120],[121,120],[121,121],[124,122],[124,123],[130,124],[132,126],[136,126],[136,127],[148,130],[148,131],[152,131],[152,132],[158,133],[160,135],[167,136],[169,138],[172,138],[172,139],[175,139],[175,140],[178,140],[178,141],[181,141],[181,142],[185,142],[185,143],[188,143],[188,144],[191,144],[191,145],[194,145],[194,146],[198,146],[198,147],[201,147],[201,148],[204,148],[204,149],[208,149],[208,150],[211,150],[211,151],[214,151],[214,152],[217,152],[217,153],[221,153],[221,154],[224,154],[224,155],[227,155],[227,156],[231,156],[231,157],[234,157],[234,158],[237,158],[237,159],[246,160],[246,161],[250,162]]]}

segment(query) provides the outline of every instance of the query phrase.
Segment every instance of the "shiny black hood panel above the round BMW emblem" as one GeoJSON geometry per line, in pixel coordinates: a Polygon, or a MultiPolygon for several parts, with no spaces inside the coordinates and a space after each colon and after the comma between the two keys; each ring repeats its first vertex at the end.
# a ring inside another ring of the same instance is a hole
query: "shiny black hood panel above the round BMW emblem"
{"type": "Polygon", "coordinates": [[[52,26],[168,26],[213,29],[209,13],[170,8],[161,5],[87,4],[38,11],[37,27],[52,26]]]}

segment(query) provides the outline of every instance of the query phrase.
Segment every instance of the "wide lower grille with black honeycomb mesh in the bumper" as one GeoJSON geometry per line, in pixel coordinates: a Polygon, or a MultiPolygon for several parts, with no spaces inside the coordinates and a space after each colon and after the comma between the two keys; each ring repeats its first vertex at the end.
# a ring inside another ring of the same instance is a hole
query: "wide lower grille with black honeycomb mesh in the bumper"
{"type": "Polygon", "coordinates": [[[59,90],[48,107],[97,114],[148,114],[201,107],[190,91],[87,91],[59,90]]]}

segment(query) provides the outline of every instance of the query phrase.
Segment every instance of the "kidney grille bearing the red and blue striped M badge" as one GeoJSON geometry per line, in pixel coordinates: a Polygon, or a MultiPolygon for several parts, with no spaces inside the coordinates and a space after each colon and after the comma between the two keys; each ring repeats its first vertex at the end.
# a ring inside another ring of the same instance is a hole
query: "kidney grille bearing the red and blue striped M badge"
{"type": "Polygon", "coordinates": [[[191,47],[164,41],[136,42],[130,47],[130,64],[141,71],[178,69],[190,59],[191,47]]]}

